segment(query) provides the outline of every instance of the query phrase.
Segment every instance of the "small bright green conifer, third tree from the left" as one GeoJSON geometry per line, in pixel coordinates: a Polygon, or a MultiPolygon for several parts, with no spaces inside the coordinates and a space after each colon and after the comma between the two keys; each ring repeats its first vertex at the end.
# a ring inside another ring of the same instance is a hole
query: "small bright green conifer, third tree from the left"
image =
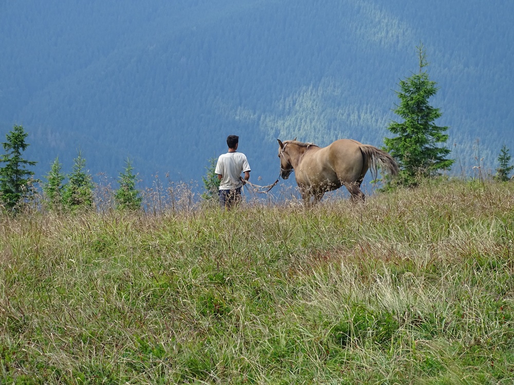
{"type": "Polygon", "coordinates": [[[85,169],[86,160],[79,151],[74,159],[71,174],[68,175],[68,183],[63,192],[63,201],[67,208],[75,210],[78,207],[93,206],[93,178],[85,169]]]}

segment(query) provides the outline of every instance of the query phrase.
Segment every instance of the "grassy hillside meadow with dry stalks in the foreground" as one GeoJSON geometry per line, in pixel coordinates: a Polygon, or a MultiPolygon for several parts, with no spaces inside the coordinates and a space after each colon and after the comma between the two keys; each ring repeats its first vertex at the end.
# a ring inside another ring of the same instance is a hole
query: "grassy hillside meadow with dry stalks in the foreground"
{"type": "Polygon", "coordinates": [[[0,218],[3,383],[514,379],[511,184],[176,202],[0,218]]]}

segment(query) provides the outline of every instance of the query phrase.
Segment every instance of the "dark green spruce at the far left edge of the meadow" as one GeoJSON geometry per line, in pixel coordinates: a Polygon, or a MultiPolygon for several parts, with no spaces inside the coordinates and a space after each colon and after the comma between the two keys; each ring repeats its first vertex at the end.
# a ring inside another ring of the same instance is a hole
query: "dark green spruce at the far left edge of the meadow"
{"type": "Polygon", "coordinates": [[[13,210],[33,194],[32,182],[34,172],[27,169],[38,162],[23,159],[22,152],[29,146],[25,142],[28,133],[22,126],[15,125],[6,134],[7,141],[2,143],[7,152],[0,157],[0,203],[13,210]]]}

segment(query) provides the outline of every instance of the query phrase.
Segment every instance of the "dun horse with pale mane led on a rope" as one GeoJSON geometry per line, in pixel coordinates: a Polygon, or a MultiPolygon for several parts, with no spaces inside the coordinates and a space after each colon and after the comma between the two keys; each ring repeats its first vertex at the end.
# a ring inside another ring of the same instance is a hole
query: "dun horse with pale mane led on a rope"
{"type": "Polygon", "coordinates": [[[295,171],[296,182],[306,205],[314,196],[318,203],[326,191],[345,186],[354,201],[364,200],[360,185],[371,168],[376,177],[377,166],[398,174],[398,165],[389,153],[355,140],[340,139],[327,147],[297,140],[279,141],[280,176],[289,178],[295,171]]]}

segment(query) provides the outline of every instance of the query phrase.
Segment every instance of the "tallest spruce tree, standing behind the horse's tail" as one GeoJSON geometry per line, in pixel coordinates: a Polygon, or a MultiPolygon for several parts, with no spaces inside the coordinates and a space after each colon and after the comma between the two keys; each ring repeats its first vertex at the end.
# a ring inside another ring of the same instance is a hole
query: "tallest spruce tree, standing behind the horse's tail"
{"type": "Polygon", "coordinates": [[[444,146],[448,140],[445,133],[448,127],[440,127],[434,123],[442,113],[429,104],[429,99],[439,88],[424,70],[428,62],[423,44],[416,49],[419,72],[401,80],[400,91],[395,91],[400,104],[393,111],[403,122],[391,122],[388,129],[397,136],[384,139],[384,149],[400,165],[398,181],[405,186],[416,185],[419,178],[436,176],[439,170],[449,169],[454,162],[446,159],[450,153],[444,146]]]}

